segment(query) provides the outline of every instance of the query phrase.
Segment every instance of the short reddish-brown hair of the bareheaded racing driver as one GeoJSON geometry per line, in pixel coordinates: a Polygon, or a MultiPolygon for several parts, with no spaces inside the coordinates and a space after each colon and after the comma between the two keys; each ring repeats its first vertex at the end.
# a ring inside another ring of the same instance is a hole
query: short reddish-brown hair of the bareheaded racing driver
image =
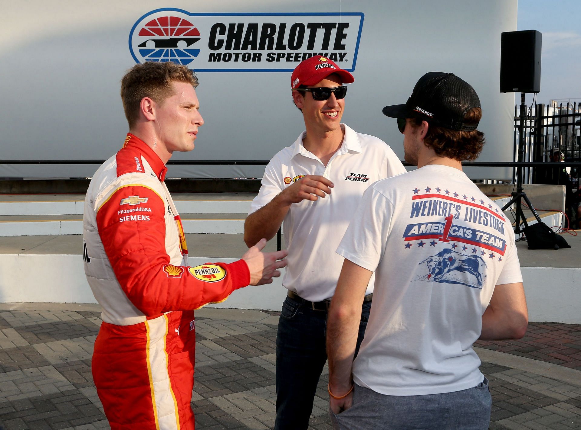
{"type": "Polygon", "coordinates": [[[129,128],[135,125],[139,118],[139,105],[144,97],[150,97],[155,103],[163,103],[167,97],[173,96],[173,82],[190,83],[193,88],[198,86],[198,77],[185,65],[153,63],[148,61],[136,64],[127,71],[121,79],[121,100],[125,118],[129,128]]]}

